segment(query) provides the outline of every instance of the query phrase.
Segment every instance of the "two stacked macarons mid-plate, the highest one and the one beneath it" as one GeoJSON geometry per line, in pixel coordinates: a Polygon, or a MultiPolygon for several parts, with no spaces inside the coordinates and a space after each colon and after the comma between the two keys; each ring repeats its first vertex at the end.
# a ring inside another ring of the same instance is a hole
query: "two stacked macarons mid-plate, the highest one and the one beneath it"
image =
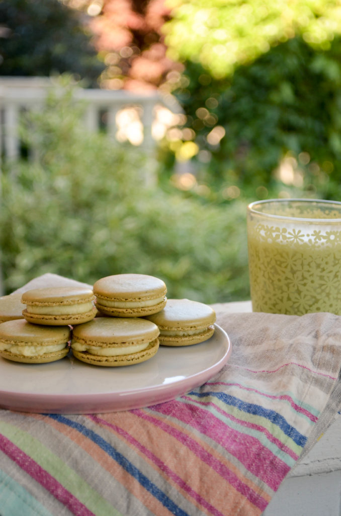
{"type": "Polygon", "coordinates": [[[93,293],[100,316],[74,328],[74,356],[104,366],[137,364],[154,357],[160,331],[143,317],[165,307],[165,283],[144,274],[117,274],[96,281],[93,293]]]}

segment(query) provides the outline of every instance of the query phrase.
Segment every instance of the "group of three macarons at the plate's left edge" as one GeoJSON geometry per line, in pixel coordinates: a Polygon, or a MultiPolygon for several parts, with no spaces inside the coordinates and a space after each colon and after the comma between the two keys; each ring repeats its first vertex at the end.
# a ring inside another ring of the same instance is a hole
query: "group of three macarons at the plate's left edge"
{"type": "Polygon", "coordinates": [[[0,356],[30,364],[65,357],[70,325],[95,317],[94,299],[84,287],[36,288],[0,298],[0,356]]]}

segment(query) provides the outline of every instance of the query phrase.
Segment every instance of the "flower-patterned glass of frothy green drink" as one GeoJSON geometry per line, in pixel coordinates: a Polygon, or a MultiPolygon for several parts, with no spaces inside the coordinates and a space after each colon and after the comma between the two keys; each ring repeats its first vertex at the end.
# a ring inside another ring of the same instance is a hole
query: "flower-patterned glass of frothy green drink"
{"type": "Polygon", "coordinates": [[[253,202],[247,238],[253,312],[341,315],[341,202],[253,202]]]}

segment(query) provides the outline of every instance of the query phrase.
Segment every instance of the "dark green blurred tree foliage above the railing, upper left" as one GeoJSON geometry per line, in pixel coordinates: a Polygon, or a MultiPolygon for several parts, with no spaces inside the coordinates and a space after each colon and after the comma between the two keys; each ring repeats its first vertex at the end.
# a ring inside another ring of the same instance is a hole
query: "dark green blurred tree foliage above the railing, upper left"
{"type": "Polygon", "coordinates": [[[105,67],[83,16],[59,0],[2,0],[0,75],[69,72],[96,85],[105,67]]]}

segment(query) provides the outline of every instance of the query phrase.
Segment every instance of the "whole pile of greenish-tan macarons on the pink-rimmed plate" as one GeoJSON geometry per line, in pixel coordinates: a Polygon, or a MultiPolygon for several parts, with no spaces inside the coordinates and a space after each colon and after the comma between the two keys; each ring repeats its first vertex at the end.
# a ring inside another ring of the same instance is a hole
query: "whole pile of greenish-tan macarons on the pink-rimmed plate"
{"type": "Polygon", "coordinates": [[[71,342],[82,362],[125,366],[154,357],[160,344],[189,346],[212,336],[212,308],[188,299],[167,300],[166,293],[161,279],[142,274],[107,276],[93,289],[27,291],[16,300],[23,308],[21,318],[0,319],[0,356],[51,362],[66,356],[71,342]]]}

